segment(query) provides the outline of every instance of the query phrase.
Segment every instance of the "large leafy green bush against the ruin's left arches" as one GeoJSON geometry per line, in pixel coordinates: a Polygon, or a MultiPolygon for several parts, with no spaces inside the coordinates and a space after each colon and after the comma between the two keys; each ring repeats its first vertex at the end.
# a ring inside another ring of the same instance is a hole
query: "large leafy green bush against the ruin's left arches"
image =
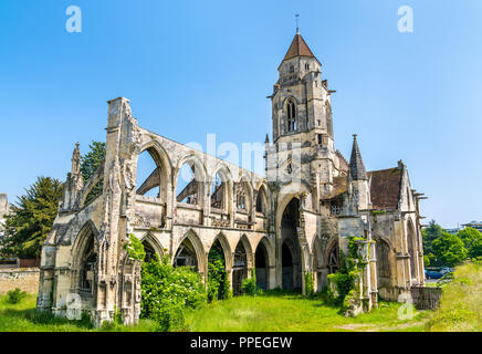
{"type": "Polygon", "coordinates": [[[201,275],[189,267],[172,267],[169,258],[155,258],[142,270],[142,317],[159,324],[160,331],[180,330],[185,310],[206,303],[201,275]]]}

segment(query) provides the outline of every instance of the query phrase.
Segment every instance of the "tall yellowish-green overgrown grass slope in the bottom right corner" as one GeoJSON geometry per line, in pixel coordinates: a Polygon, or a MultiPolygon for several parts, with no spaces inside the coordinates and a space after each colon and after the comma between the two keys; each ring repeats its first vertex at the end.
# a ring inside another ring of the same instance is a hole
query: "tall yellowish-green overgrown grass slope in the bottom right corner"
{"type": "Polygon", "coordinates": [[[427,324],[432,332],[482,331],[482,262],[458,267],[443,285],[440,309],[427,324]]]}

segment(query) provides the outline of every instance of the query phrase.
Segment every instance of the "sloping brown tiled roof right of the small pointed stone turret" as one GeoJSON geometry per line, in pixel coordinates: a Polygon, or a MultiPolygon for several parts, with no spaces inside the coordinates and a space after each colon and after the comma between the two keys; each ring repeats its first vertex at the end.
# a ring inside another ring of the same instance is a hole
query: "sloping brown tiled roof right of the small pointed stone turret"
{"type": "Polygon", "coordinates": [[[388,168],[367,173],[370,181],[371,205],[374,209],[396,209],[400,199],[401,168],[388,168]]]}

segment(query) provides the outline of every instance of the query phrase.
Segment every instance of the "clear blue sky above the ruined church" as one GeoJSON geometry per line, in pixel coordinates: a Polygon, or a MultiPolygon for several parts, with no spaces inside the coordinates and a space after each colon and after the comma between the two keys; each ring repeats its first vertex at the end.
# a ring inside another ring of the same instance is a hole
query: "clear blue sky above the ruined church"
{"type": "Polygon", "coordinates": [[[402,159],[428,219],[482,220],[480,0],[1,1],[0,191],[63,180],[117,96],[181,143],[263,142],[294,13],[337,91],[336,147],[349,157],[357,133],[367,169],[402,159]],[[71,4],[82,33],[65,30],[71,4]],[[397,29],[405,4],[413,33],[397,29]]]}

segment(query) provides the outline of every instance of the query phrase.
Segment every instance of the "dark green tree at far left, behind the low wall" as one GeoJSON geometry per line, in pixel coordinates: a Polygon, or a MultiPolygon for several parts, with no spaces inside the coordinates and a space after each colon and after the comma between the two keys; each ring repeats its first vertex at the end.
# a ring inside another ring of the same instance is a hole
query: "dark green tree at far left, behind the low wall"
{"type": "Polygon", "coordinates": [[[2,257],[40,257],[55,219],[63,184],[51,177],[39,177],[18,197],[6,218],[6,236],[1,240],[2,257]]]}

